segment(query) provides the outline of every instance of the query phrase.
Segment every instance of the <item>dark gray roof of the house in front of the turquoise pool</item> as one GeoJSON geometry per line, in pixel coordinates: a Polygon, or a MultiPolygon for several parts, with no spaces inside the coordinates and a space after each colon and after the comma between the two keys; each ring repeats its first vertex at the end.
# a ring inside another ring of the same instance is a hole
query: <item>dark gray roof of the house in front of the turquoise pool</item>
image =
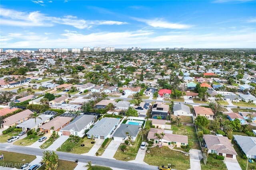
{"type": "Polygon", "coordinates": [[[136,137],[140,127],[140,125],[121,124],[120,127],[114,133],[113,137],[126,138],[126,132],[128,132],[131,137],[136,137]]]}

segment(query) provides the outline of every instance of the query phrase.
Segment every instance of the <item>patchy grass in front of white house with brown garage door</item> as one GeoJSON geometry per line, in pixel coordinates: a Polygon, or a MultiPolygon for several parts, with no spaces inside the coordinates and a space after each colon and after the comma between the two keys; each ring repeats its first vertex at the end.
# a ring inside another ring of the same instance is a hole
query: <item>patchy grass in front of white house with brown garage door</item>
{"type": "Polygon", "coordinates": [[[92,148],[92,146],[95,144],[91,144],[92,139],[88,139],[87,137],[82,138],[84,142],[78,142],[77,144],[72,143],[68,140],[66,140],[61,147],[57,149],[57,151],[60,152],[70,152],[70,153],[75,153],[75,154],[83,154],[89,152],[89,150],[92,148]],[[84,144],[84,147],[81,147],[81,144],[84,144]],[[60,149],[61,148],[61,149],[60,149]],[[72,150],[73,149],[73,150],[72,150]],[[69,151],[71,150],[71,151],[69,151]]]}

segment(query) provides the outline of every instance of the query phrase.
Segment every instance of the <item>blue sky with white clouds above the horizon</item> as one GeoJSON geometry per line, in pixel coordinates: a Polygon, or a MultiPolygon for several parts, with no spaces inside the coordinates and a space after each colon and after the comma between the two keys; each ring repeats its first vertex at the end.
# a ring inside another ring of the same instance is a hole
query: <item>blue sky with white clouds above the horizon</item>
{"type": "Polygon", "coordinates": [[[1,48],[256,48],[256,1],[5,1],[1,48]]]}

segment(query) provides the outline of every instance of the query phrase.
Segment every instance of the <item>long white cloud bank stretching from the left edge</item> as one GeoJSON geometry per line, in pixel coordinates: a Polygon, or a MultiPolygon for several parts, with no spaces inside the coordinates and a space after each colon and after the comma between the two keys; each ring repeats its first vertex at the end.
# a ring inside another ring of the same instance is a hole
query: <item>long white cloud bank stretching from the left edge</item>
{"type": "MultiPolygon", "coordinates": [[[[38,2],[38,1],[36,1],[38,2]]],[[[122,25],[127,24],[126,22],[121,21],[106,21],[106,20],[83,20],[77,19],[76,16],[64,16],[62,18],[46,16],[45,14],[40,13],[39,11],[34,11],[30,13],[18,12],[15,10],[9,10],[0,8],[0,20],[1,25],[11,25],[18,27],[25,26],[43,26],[50,27],[54,24],[63,24],[71,25],[78,29],[91,28],[94,25],[122,25]]]]}

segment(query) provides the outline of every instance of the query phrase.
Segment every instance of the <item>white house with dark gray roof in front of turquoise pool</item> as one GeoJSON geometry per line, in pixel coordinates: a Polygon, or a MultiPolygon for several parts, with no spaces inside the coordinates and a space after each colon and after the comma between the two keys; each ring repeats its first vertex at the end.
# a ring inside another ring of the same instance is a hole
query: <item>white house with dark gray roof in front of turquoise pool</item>
{"type": "Polygon", "coordinates": [[[128,139],[128,135],[132,141],[135,141],[140,129],[140,125],[129,125],[122,123],[113,135],[114,141],[124,142],[128,139]]]}

